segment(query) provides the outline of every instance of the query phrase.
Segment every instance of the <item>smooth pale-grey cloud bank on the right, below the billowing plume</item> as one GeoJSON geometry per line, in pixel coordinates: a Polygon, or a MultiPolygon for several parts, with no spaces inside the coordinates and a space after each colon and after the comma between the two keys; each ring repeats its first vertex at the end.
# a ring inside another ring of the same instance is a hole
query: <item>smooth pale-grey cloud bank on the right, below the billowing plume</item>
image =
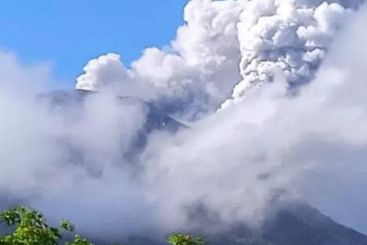
{"type": "MultiPolygon", "coordinates": [[[[364,13],[337,39],[298,97],[278,97],[288,87],[279,72],[273,83],[202,121],[176,145],[162,141],[159,159],[146,162],[146,180],[151,195],[165,200],[157,206],[167,219],[180,220],[180,208],[201,202],[225,221],[251,223],[285,188],[287,198],[306,198],[366,231],[364,13]]],[[[157,142],[151,147],[157,152],[157,142]]]]}

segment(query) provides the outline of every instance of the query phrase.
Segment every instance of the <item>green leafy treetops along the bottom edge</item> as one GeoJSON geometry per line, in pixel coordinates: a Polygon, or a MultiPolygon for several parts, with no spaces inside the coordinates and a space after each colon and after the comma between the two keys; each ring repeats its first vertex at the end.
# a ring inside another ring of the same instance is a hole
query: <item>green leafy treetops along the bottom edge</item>
{"type": "MultiPolygon", "coordinates": [[[[61,233],[74,232],[74,225],[69,221],[61,221],[59,227],[46,223],[44,216],[23,206],[7,209],[0,214],[0,223],[12,227],[12,233],[0,236],[0,245],[59,245],[62,241],[61,233]]],[[[188,235],[173,234],[168,242],[172,245],[203,245],[200,238],[188,235]]],[[[75,235],[72,242],[65,245],[92,245],[87,239],[75,235]]]]}

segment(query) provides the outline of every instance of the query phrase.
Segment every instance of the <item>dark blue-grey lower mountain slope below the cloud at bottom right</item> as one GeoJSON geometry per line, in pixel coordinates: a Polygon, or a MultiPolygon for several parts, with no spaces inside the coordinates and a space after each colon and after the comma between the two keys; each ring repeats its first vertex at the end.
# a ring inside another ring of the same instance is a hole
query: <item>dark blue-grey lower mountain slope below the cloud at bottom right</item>
{"type": "MultiPolygon", "coordinates": [[[[207,245],[367,245],[367,236],[336,223],[306,203],[292,203],[275,212],[258,229],[238,224],[226,231],[208,234],[195,231],[207,245]]],[[[127,240],[143,244],[144,237],[127,240]]],[[[150,244],[164,245],[153,242],[150,244]]]]}

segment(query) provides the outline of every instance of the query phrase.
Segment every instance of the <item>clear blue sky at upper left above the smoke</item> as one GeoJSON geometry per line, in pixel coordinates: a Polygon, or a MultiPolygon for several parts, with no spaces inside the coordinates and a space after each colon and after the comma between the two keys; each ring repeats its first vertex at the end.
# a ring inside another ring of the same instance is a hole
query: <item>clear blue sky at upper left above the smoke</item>
{"type": "Polygon", "coordinates": [[[127,65],[171,41],[187,0],[0,0],[0,47],[26,63],[53,62],[56,87],[72,88],[88,60],[106,52],[127,65]]]}

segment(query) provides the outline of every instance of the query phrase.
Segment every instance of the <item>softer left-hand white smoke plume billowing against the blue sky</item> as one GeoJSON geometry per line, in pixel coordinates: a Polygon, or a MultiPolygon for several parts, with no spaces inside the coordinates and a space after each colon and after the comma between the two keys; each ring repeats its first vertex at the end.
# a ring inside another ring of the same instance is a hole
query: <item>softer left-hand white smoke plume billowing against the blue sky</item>
{"type": "Polygon", "coordinates": [[[213,111],[240,79],[236,24],[242,5],[232,0],[190,1],[184,9],[187,24],[178,28],[170,50],[145,49],[131,69],[116,54],[102,55],[87,64],[76,88],[100,90],[108,85],[120,95],[131,95],[130,88],[143,87],[135,95],[181,98],[181,103],[191,106],[185,119],[213,111]]]}

